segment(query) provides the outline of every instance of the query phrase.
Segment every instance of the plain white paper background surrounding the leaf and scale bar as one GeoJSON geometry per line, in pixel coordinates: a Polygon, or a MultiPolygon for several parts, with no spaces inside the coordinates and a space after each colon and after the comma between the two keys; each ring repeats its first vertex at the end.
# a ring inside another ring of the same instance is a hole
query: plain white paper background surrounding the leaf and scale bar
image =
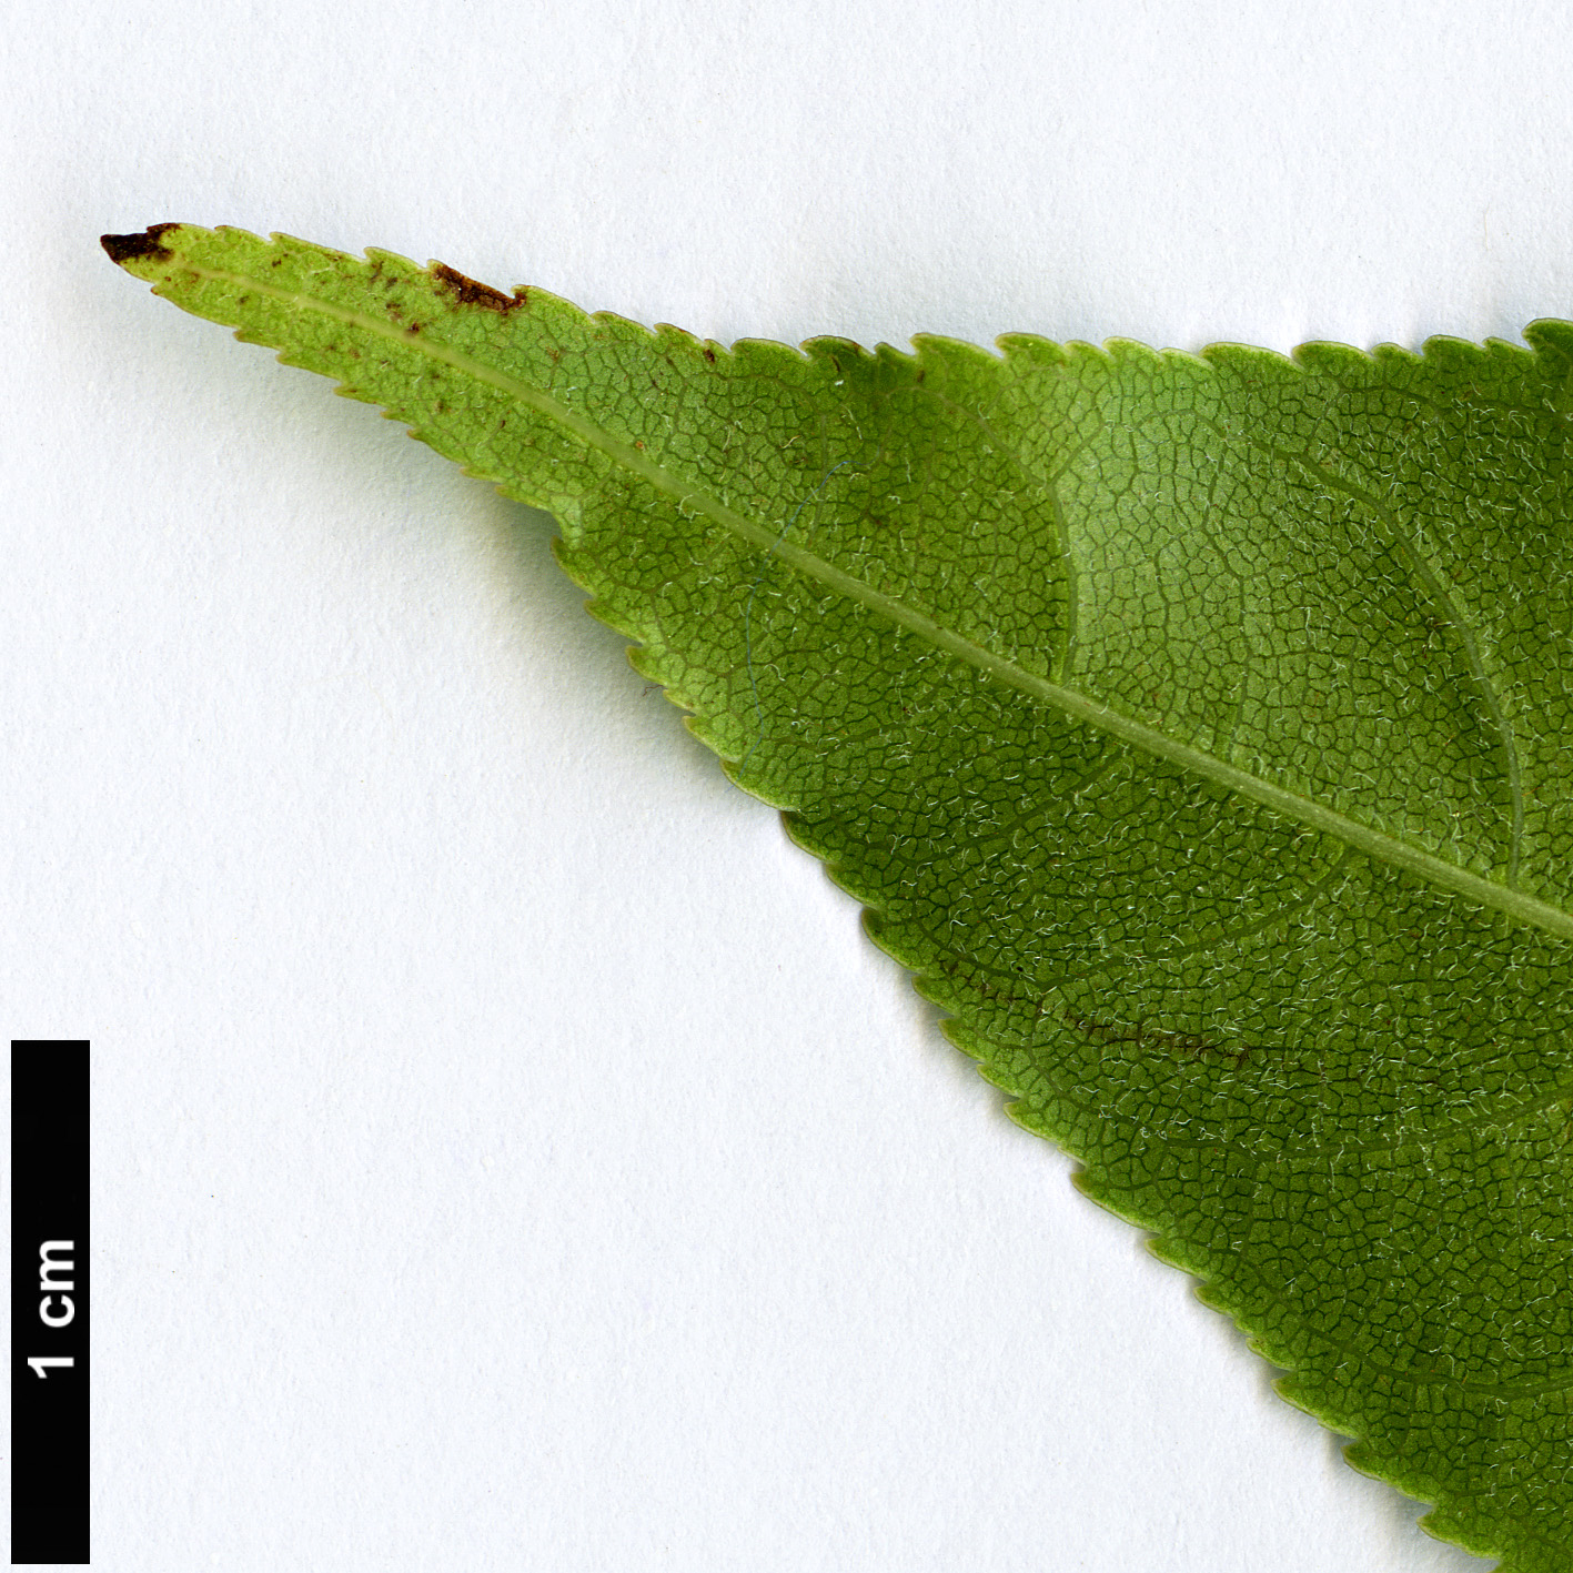
{"type": "Polygon", "coordinates": [[[3,20],[0,1000],[94,1043],[96,1564],[1483,1567],[1010,1125],[547,521],[98,234],[722,340],[1513,337],[1567,8],[3,20]]]}

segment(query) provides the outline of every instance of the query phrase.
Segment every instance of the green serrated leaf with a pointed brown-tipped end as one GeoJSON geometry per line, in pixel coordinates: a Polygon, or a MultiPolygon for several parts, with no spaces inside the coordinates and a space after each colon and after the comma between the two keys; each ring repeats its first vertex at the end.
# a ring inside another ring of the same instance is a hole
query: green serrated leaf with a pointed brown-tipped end
{"type": "Polygon", "coordinates": [[[1573,326],[724,349],[104,244],[552,511],[1082,1189],[1428,1529],[1573,1567],[1573,326]]]}

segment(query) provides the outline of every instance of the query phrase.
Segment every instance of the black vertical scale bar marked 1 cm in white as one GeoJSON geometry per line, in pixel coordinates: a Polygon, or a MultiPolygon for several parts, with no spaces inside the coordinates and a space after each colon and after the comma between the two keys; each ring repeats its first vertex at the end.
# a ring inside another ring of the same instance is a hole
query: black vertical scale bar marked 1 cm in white
{"type": "Polygon", "coordinates": [[[11,1562],[88,1560],[88,1046],[11,1040],[11,1562]]]}

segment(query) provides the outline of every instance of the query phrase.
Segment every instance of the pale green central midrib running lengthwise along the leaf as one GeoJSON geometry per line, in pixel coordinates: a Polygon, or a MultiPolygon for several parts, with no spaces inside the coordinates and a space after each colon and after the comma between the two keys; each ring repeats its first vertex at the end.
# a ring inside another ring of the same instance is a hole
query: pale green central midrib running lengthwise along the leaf
{"type": "MultiPolygon", "coordinates": [[[[370,316],[363,311],[351,310],[349,307],[337,305],[332,300],[322,300],[318,296],[280,288],[266,278],[255,278],[228,269],[204,267],[184,260],[176,266],[179,271],[195,274],[200,278],[241,286],[255,294],[267,296],[269,299],[282,304],[297,307],[299,310],[316,311],[321,316],[327,316],[378,338],[385,338],[390,343],[415,349],[442,365],[451,367],[455,371],[470,376],[478,382],[484,382],[499,392],[507,393],[510,398],[518,400],[529,409],[554,420],[587,447],[604,453],[615,464],[670,497],[680,510],[686,510],[691,514],[703,514],[724,529],[731,530],[758,551],[775,555],[790,568],[805,574],[826,590],[843,595],[867,610],[898,624],[900,628],[909,629],[934,648],[944,650],[947,654],[952,654],[958,661],[971,665],[974,670],[1004,683],[1007,687],[1051,705],[1074,720],[1096,727],[1100,731],[1118,738],[1122,742],[1128,742],[1133,747],[1140,749],[1144,753],[1167,760],[1169,763],[1191,771],[1205,780],[1225,788],[1227,791],[1238,793],[1251,802],[1262,804],[1276,813],[1282,813],[1309,829],[1335,835],[1346,845],[1365,853],[1369,857],[1391,864],[1397,868],[1405,868],[1409,873],[1428,879],[1431,884],[1463,895],[1480,903],[1482,906],[1491,908],[1493,911],[1505,912],[1509,917],[1540,928],[1559,939],[1573,939],[1573,912],[1538,901],[1521,890],[1507,889],[1496,881],[1483,879],[1480,875],[1460,868],[1457,864],[1449,864],[1417,846],[1411,846],[1408,842],[1402,842],[1383,831],[1376,831],[1367,824],[1361,824],[1357,820],[1337,813],[1335,810],[1328,809],[1301,793],[1288,791],[1287,788],[1279,786],[1274,782],[1263,780],[1260,775],[1252,775],[1249,771],[1243,771],[1216,755],[1205,753],[1200,749],[1192,749],[1189,744],[1180,742],[1178,739],[1158,731],[1155,727],[1147,727],[1139,720],[1133,720],[1129,716],[1123,716],[1115,709],[1109,709],[1106,705],[1100,705],[1085,694],[1079,694],[1074,689],[1065,687],[1059,683],[1051,683],[1048,678],[1027,672],[1024,667],[994,654],[983,645],[977,645],[972,640],[964,639],[961,634],[944,628],[915,607],[911,607],[893,596],[884,595],[862,579],[837,568],[834,563],[816,557],[813,552],[809,552],[801,546],[794,546],[790,541],[782,540],[780,535],[771,527],[755,524],[752,519],[728,508],[703,489],[669,473],[645,453],[640,453],[631,444],[613,437],[610,433],[595,425],[595,422],[569,409],[549,393],[544,393],[541,389],[530,387],[530,384],[521,382],[516,378],[508,376],[505,371],[499,371],[495,367],[489,367],[486,362],[477,360],[473,355],[469,355],[461,349],[455,349],[450,344],[444,344],[440,340],[434,340],[429,330],[401,329],[393,322],[370,316]]],[[[516,484],[508,477],[494,475],[489,478],[494,481],[516,484]]]]}

